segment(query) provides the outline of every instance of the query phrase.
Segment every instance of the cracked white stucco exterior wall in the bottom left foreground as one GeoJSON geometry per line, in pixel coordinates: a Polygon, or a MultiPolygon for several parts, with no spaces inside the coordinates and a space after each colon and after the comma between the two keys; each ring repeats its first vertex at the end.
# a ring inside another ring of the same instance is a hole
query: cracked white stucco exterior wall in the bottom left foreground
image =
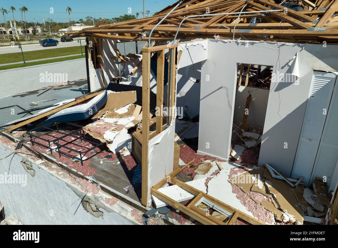
{"type": "MultiPolygon", "coordinates": [[[[0,158],[13,152],[0,143],[0,158]]],[[[33,165],[35,176],[28,174],[22,164],[21,154],[10,155],[0,161],[0,175],[26,175],[27,184],[0,184],[0,199],[5,206],[5,214],[13,214],[28,225],[87,225],[87,224],[135,224],[106,205],[103,218],[94,217],[80,204],[74,203],[85,191],[74,179],[63,178],[62,173],[46,166],[33,165]],[[73,204],[74,203],[74,204],[73,204]],[[73,204],[71,206],[71,204],[73,204]],[[77,209],[78,208],[78,209],[77,209]],[[76,210],[77,209],[77,210],[76,210]],[[76,212],[76,213],[75,213],[76,212]],[[75,213],[75,215],[74,215],[75,213]]],[[[67,172],[64,172],[67,173],[67,172]]],[[[87,194],[92,197],[90,192],[87,194]]],[[[116,204],[114,205],[116,207],[116,204]]],[[[119,207],[128,215],[132,208],[119,207]]]]}

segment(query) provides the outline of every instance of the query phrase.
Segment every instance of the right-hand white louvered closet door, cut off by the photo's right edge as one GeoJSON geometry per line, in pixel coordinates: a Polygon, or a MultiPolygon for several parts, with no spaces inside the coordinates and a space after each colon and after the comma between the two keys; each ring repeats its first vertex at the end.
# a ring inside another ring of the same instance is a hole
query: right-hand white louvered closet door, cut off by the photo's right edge
{"type": "Polygon", "coordinates": [[[313,167],[310,183],[315,177],[326,176],[330,185],[333,170],[338,156],[338,90],[336,85],[333,91],[328,116],[325,121],[324,131],[319,143],[318,153],[313,167]]]}

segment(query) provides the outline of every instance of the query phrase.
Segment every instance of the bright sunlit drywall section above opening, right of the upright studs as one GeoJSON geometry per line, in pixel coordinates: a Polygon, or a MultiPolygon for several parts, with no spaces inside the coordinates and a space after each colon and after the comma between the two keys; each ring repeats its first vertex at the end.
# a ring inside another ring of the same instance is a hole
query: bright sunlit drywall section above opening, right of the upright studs
{"type": "Polygon", "coordinates": [[[208,40],[198,40],[179,44],[177,52],[182,51],[177,68],[183,68],[208,59],[208,40]]]}

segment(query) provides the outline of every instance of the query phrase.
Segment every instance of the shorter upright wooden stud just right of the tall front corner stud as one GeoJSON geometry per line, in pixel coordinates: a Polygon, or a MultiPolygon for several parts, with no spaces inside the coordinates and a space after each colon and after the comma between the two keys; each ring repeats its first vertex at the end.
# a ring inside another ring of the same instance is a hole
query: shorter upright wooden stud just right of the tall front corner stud
{"type": "Polygon", "coordinates": [[[157,52],[157,82],[156,82],[156,135],[162,132],[163,120],[163,87],[164,87],[164,55],[165,50],[157,52]]]}

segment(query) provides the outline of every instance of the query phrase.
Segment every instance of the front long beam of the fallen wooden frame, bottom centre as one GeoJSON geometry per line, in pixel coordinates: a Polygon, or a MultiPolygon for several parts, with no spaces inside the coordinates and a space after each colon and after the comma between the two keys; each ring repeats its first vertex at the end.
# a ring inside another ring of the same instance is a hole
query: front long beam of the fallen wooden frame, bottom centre
{"type": "Polygon", "coordinates": [[[185,205],[182,205],[181,203],[178,203],[177,201],[175,201],[174,199],[166,196],[165,194],[161,193],[160,191],[151,188],[150,193],[153,196],[156,196],[157,198],[159,198],[160,200],[174,206],[176,209],[178,209],[179,211],[182,211],[183,213],[189,215],[190,217],[194,218],[195,220],[201,222],[204,225],[216,225],[214,222],[208,220],[206,217],[201,216],[200,214],[197,214],[196,212],[190,210],[189,208],[187,208],[185,205]]]}

